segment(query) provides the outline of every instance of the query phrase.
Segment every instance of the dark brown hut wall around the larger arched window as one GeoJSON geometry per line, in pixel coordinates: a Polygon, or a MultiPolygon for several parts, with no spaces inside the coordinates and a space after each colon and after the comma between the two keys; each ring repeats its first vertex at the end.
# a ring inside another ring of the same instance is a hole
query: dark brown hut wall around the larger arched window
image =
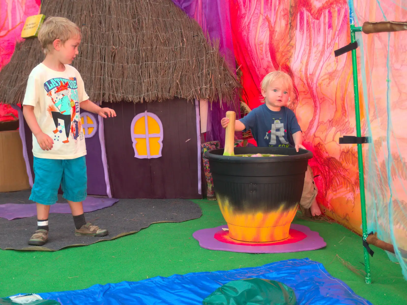
{"type": "Polygon", "coordinates": [[[104,120],[113,197],[202,198],[198,194],[194,103],[176,99],[153,103],[112,103],[108,107],[117,114],[116,118],[104,120]],[[132,121],[146,111],[162,124],[162,150],[158,158],[135,157],[132,121]]]}

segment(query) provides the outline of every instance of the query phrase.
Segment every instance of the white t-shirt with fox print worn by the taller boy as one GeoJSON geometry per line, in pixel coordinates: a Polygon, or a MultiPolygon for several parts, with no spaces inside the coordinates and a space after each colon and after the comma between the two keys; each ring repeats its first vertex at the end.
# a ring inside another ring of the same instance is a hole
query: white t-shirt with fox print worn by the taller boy
{"type": "Polygon", "coordinates": [[[33,155],[45,159],[74,159],[86,155],[79,103],[89,99],[79,72],[65,65],[54,71],[39,64],[30,73],[23,105],[34,106],[42,132],[54,140],[51,150],[42,150],[33,135],[33,155]]]}

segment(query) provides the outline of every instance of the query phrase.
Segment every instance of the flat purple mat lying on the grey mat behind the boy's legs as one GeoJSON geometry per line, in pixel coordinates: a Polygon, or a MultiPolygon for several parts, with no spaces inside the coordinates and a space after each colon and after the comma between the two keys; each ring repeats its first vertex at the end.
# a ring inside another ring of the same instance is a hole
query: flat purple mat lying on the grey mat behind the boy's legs
{"type": "MultiPolygon", "coordinates": [[[[112,206],[118,199],[114,198],[96,198],[92,196],[86,197],[83,201],[83,212],[93,212],[102,208],[112,206]]],[[[50,213],[62,213],[70,214],[71,209],[67,203],[56,203],[50,208],[50,213]]],[[[35,203],[30,204],[18,204],[18,203],[6,203],[0,204],[0,217],[9,220],[25,218],[37,215],[37,205],[35,203]]]]}

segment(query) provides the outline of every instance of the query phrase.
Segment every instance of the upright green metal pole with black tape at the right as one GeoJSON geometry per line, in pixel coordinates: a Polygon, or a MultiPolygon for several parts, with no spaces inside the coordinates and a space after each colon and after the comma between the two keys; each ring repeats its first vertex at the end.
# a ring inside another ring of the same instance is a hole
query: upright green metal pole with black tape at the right
{"type": "MultiPolygon", "coordinates": [[[[352,11],[352,8],[350,8],[352,11]]],[[[351,13],[353,15],[353,13],[351,13]]],[[[353,17],[353,16],[352,16],[353,17]]],[[[353,18],[352,18],[353,19],[353,18]]],[[[353,20],[351,20],[353,21],[353,20]]],[[[355,32],[360,32],[361,27],[355,27],[354,22],[350,24],[350,42],[355,42],[355,32]]],[[[356,116],[356,136],[361,136],[360,128],[360,106],[359,106],[359,87],[357,79],[357,59],[356,59],[356,50],[352,50],[352,72],[353,72],[353,93],[355,100],[355,116],[356,116]]],[[[357,144],[357,158],[359,164],[359,189],[360,189],[360,205],[362,210],[362,232],[363,239],[366,240],[368,237],[368,226],[366,221],[366,199],[365,199],[365,180],[363,176],[363,154],[362,154],[362,145],[357,144]]],[[[370,260],[369,252],[366,248],[363,247],[363,254],[365,257],[365,281],[367,284],[371,283],[370,279],[370,260]]]]}

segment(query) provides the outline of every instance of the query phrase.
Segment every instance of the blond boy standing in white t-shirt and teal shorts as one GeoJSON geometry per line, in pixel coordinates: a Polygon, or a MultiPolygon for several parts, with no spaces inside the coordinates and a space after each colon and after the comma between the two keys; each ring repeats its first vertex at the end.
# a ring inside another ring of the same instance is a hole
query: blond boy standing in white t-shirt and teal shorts
{"type": "Polygon", "coordinates": [[[86,146],[79,108],[103,118],[116,113],[89,100],[81,75],[70,66],[79,54],[81,38],[76,24],[59,17],[48,18],[38,33],[45,59],[31,71],[23,101],[24,118],[33,132],[35,180],[30,200],[37,202],[38,227],[28,241],[31,245],[42,246],[48,241],[48,214],[57,202],[59,185],[72,211],[75,235],[108,234],[86,223],[83,214],[86,146]]]}

